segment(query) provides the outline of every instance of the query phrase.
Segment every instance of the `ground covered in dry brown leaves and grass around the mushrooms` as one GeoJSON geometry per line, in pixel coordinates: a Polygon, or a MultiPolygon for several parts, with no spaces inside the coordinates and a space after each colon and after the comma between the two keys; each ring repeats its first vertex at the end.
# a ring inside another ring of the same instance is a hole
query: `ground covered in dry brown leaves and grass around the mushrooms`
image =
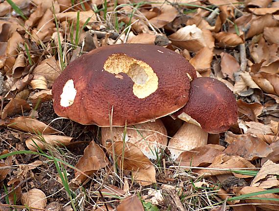
{"type": "Polygon", "coordinates": [[[272,0],[1,2],[0,210],[278,210],[278,12],[272,0]],[[70,61],[123,42],[223,81],[238,123],[173,161],[56,116],[51,86],[70,61]]]}

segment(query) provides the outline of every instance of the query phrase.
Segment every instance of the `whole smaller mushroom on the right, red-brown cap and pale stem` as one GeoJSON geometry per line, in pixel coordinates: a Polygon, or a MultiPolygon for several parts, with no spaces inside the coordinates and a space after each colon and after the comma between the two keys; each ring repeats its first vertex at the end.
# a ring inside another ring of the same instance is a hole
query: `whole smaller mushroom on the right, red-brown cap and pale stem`
{"type": "Polygon", "coordinates": [[[169,140],[173,159],[186,150],[207,144],[208,133],[227,131],[237,122],[237,105],[232,91],[221,81],[208,77],[191,81],[189,101],[172,115],[185,121],[169,140]]]}

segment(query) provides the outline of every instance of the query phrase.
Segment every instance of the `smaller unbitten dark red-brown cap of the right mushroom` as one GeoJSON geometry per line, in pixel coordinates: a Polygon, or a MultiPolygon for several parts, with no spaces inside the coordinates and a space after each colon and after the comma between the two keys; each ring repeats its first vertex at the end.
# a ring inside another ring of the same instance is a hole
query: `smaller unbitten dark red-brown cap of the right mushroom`
{"type": "Polygon", "coordinates": [[[185,114],[206,132],[225,132],[237,122],[237,104],[226,84],[201,77],[191,81],[188,103],[173,116],[184,119],[185,114]]]}

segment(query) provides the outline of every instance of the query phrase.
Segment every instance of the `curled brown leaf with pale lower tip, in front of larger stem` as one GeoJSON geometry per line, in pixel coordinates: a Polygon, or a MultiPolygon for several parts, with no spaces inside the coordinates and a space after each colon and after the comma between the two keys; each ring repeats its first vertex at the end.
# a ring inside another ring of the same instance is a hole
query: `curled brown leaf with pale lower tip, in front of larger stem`
{"type": "MultiPolygon", "coordinates": [[[[155,167],[150,160],[141,152],[141,150],[130,142],[116,141],[115,154],[118,166],[123,170],[134,172],[134,176],[141,185],[150,185],[156,182],[155,167]],[[124,146],[124,150],[123,150],[124,146]]],[[[108,152],[112,155],[112,144],[106,146],[108,152]]]]}

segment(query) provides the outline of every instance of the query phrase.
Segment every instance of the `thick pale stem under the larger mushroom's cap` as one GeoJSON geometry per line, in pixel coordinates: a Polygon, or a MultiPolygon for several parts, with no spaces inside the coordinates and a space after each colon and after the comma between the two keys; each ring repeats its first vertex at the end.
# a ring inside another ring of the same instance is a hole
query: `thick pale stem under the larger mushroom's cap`
{"type": "MultiPolygon", "coordinates": [[[[110,128],[102,128],[102,144],[111,139],[110,128]]],[[[128,141],[135,144],[149,159],[157,159],[157,153],[165,149],[167,145],[167,133],[163,122],[158,119],[155,122],[146,122],[134,126],[127,126],[125,138],[124,127],[113,127],[114,141],[128,141]]]]}

